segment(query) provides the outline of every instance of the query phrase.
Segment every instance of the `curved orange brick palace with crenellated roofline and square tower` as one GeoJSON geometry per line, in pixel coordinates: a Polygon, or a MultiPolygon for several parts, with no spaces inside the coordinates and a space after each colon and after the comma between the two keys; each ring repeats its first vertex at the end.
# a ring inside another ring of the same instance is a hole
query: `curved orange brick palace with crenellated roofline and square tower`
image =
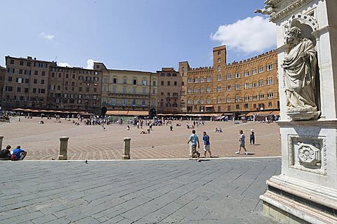
{"type": "MultiPolygon", "coordinates": [[[[187,65],[186,65],[187,64],[187,65]]],[[[187,67],[187,112],[279,110],[277,53],[226,64],[226,48],[213,48],[213,67],[187,67]]]]}

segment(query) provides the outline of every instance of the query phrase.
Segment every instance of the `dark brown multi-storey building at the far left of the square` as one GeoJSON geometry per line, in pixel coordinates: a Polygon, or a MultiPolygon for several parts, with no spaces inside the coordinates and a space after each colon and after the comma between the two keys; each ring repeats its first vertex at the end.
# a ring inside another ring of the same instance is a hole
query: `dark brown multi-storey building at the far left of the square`
{"type": "Polygon", "coordinates": [[[6,56],[6,77],[1,98],[2,107],[29,107],[45,109],[49,67],[56,62],[36,58],[13,58],[6,56]]]}

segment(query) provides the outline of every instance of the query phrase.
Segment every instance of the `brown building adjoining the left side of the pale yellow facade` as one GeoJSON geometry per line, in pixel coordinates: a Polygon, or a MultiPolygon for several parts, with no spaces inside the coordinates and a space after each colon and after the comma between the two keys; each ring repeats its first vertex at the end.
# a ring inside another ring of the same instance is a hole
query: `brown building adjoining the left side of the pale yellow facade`
{"type": "Polygon", "coordinates": [[[51,66],[46,108],[99,114],[101,82],[100,70],[51,66]]]}

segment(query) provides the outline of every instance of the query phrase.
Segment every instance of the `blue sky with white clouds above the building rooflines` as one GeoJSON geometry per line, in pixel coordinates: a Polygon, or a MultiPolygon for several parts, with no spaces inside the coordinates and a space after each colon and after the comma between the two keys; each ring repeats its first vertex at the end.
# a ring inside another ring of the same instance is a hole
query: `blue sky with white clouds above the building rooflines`
{"type": "Polygon", "coordinates": [[[275,26],[254,10],[263,0],[1,0],[4,57],[55,60],[87,67],[155,72],[211,66],[212,48],[227,45],[227,62],[275,48],[275,26]]]}

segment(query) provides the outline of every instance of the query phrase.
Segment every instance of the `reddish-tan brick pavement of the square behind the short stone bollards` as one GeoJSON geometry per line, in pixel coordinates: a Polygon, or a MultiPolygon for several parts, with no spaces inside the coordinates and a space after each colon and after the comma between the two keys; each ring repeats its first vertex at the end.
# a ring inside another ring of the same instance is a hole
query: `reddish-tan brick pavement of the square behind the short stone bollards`
{"type": "MultiPolygon", "coordinates": [[[[38,117],[12,119],[10,124],[0,124],[0,135],[4,136],[5,145],[21,145],[29,153],[27,159],[57,159],[60,145],[59,138],[68,136],[68,159],[121,159],[123,154],[123,139],[131,138],[131,159],[170,159],[186,158],[189,154],[187,140],[192,129],[187,129],[186,121],[173,121],[173,132],[169,126],[154,126],[153,131],[141,135],[140,131],[131,126],[126,130],[126,124],[120,126],[111,124],[102,131],[100,126],[75,126],[71,121],[61,119],[44,119],[45,124],[39,124],[38,117]],[[176,126],[180,123],[182,126],[176,126]]],[[[77,121],[77,119],[74,119],[77,121]]],[[[191,122],[190,122],[191,123],[191,122]]],[[[260,124],[249,122],[234,124],[232,121],[206,121],[204,126],[196,128],[199,138],[202,131],[207,131],[211,141],[211,152],[216,157],[247,157],[236,155],[239,144],[239,129],[246,135],[246,148],[251,153],[248,157],[279,156],[281,143],[279,141],[279,126],[275,123],[260,124]],[[223,133],[214,133],[216,127],[221,127],[223,133]],[[249,130],[256,133],[256,145],[249,145],[249,130]]],[[[202,140],[200,140],[202,150],[202,140]]],[[[203,153],[201,153],[203,154],[203,153]]],[[[207,157],[209,154],[207,154],[207,157]]]]}

